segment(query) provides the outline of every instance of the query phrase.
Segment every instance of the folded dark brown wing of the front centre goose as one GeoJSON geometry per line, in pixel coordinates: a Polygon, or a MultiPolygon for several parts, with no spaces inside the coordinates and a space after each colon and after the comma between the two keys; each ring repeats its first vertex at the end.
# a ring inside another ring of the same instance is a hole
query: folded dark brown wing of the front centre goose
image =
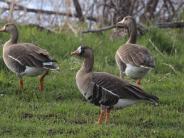
{"type": "Polygon", "coordinates": [[[93,96],[96,95],[96,99],[93,99],[96,103],[101,101],[105,105],[113,105],[119,99],[148,100],[154,103],[158,101],[156,96],[146,94],[141,88],[108,73],[95,72],[92,82],[94,83],[93,96]]]}

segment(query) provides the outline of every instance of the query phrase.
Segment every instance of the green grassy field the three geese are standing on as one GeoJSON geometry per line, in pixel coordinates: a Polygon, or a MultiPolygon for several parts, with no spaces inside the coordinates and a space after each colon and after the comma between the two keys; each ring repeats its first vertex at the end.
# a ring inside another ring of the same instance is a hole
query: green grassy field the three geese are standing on
{"type": "MultiPolygon", "coordinates": [[[[86,44],[94,49],[95,71],[118,75],[114,55],[126,38],[111,41],[109,32],[74,36],[30,27],[19,26],[19,30],[19,41],[46,48],[58,60],[61,70],[46,77],[43,93],[38,91],[38,79],[28,77],[24,78],[25,89],[19,91],[18,79],[0,57],[1,138],[184,137],[183,30],[152,27],[138,38],[138,43],[148,47],[156,60],[156,68],[142,83],[145,91],[160,98],[159,106],[140,103],[113,111],[110,124],[101,126],[96,124],[99,108],[85,102],[76,87],[75,74],[81,61],[71,57],[70,52],[81,43],[86,44]]],[[[8,34],[0,34],[0,44],[8,38],[8,34]]]]}

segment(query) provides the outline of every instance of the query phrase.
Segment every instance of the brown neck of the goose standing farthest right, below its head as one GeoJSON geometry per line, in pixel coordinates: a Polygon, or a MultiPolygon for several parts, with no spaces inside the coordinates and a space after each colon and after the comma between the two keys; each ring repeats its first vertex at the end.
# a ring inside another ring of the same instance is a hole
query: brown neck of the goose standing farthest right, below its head
{"type": "Polygon", "coordinates": [[[128,35],[129,39],[127,43],[135,44],[137,39],[137,26],[135,21],[133,21],[130,26],[128,26],[128,35]]]}

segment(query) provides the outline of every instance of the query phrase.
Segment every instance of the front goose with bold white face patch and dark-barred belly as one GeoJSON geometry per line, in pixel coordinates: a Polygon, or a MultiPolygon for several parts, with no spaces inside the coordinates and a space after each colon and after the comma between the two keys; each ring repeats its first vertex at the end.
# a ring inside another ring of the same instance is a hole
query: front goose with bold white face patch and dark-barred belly
{"type": "Polygon", "coordinates": [[[109,73],[93,72],[94,56],[91,48],[80,46],[71,55],[84,59],[76,74],[76,84],[86,100],[101,107],[98,124],[102,123],[104,117],[106,123],[109,122],[112,108],[123,108],[143,100],[157,105],[158,98],[146,94],[141,88],[109,73]]]}

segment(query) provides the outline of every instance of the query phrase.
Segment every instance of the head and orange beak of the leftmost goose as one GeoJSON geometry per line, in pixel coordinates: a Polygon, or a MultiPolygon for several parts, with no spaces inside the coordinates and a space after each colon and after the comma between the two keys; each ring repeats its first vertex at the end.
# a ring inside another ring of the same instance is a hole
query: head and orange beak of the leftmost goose
{"type": "Polygon", "coordinates": [[[8,33],[13,33],[13,32],[17,32],[17,27],[15,24],[13,23],[8,23],[5,24],[1,29],[0,32],[8,32],[8,33]]]}

